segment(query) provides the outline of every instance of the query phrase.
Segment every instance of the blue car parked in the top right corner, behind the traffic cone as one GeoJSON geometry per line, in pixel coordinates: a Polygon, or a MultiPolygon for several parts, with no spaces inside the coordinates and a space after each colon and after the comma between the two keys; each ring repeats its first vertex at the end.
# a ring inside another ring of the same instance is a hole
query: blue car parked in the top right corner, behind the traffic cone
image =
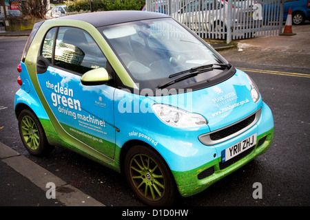
{"type": "Polygon", "coordinates": [[[301,25],[305,20],[310,20],[310,1],[309,0],[285,0],[283,21],[287,20],[287,14],[291,8],[293,25],[301,25]]]}

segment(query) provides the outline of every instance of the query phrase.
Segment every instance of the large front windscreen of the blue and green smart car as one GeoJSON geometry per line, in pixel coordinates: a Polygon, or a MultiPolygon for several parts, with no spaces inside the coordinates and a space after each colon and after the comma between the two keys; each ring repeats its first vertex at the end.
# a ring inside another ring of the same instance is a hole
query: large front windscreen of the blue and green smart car
{"type": "MultiPolygon", "coordinates": [[[[140,89],[161,85],[185,88],[220,74],[223,68],[183,77],[196,67],[226,63],[197,36],[174,19],[149,19],[99,28],[140,89]]],[[[203,68],[201,68],[203,69],[203,68]]],[[[227,68],[229,69],[229,68],[227,68]]]]}

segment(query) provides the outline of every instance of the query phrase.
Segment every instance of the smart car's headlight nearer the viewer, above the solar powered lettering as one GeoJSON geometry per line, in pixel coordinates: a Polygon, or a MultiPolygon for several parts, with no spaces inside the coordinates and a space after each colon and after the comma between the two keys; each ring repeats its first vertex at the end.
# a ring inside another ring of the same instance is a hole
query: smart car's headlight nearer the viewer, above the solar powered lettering
{"type": "Polygon", "coordinates": [[[207,124],[203,115],[190,113],[167,104],[153,104],[152,109],[159,119],[170,126],[194,127],[207,124]]]}

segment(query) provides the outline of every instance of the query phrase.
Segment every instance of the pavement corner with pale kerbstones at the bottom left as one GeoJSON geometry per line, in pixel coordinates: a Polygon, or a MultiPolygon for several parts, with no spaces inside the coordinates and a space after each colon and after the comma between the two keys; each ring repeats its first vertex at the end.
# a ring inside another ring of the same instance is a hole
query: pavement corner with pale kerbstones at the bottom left
{"type": "Polygon", "coordinates": [[[0,142],[0,206],[104,206],[0,142]]]}

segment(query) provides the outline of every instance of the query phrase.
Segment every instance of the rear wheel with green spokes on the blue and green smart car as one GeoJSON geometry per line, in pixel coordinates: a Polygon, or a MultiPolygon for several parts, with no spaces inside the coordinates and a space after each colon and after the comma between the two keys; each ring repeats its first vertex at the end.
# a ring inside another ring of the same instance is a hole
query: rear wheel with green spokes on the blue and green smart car
{"type": "Polygon", "coordinates": [[[19,135],[29,153],[43,156],[50,153],[52,147],[48,144],[43,127],[37,116],[29,109],[19,114],[19,135]]]}

